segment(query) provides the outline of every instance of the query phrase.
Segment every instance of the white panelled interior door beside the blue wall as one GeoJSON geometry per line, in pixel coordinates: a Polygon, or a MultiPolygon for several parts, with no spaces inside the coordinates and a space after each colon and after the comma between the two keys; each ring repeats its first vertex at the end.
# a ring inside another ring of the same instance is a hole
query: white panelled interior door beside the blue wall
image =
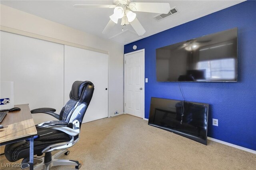
{"type": "Polygon", "coordinates": [[[144,118],[144,49],[127,53],[125,59],[125,113],[144,118]]]}

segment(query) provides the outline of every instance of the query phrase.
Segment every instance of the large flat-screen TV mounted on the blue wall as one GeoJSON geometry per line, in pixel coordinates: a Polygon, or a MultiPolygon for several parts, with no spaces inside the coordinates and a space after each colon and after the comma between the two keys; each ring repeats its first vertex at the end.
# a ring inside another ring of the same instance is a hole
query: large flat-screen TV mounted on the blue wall
{"type": "Polygon", "coordinates": [[[237,81],[237,28],[156,49],[157,81],[237,81]]]}

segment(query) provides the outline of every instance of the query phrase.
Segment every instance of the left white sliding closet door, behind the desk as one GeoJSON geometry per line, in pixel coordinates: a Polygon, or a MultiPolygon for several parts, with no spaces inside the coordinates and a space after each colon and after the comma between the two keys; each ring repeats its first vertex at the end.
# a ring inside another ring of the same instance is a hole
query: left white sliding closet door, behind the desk
{"type": "MultiPolygon", "coordinates": [[[[1,81],[14,81],[14,104],[30,109],[64,101],[64,45],[1,31],[1,81]]],[[[55,118],[34,114],[35,123],[55,118]]]]}

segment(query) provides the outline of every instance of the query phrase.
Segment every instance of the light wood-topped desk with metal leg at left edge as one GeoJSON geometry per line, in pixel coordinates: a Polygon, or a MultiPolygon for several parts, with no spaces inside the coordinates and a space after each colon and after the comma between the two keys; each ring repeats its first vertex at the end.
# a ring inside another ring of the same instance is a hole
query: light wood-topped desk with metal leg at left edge
{"type": "Polygon", "coordinates": [[[10,144],[30,138],[30,170],[33,170],[34,135],[37,134],[28,104],[15,105],[20,111],[8,112],[0,129],[0,145],[10,144]]]}

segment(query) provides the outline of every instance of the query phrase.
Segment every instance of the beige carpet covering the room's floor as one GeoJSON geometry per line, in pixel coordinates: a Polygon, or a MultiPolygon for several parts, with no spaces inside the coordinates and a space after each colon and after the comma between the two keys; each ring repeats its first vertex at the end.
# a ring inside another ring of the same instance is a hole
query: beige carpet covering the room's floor
{"type": "MultiPolygon", "coordinates": [[[[256,154],[211,140],[205,146],[149,126],[147,121],[131,115],[83,124],[79,142],[69,150],[70,154],[62,158],[78,160],[81,169],[88,170],[255,170],[256,167],[256,154]]],[[[6,162],[1,156],[1,163],[6,162]]],[[[7,169],[19,168],[1,168],[7,169]]]]}

